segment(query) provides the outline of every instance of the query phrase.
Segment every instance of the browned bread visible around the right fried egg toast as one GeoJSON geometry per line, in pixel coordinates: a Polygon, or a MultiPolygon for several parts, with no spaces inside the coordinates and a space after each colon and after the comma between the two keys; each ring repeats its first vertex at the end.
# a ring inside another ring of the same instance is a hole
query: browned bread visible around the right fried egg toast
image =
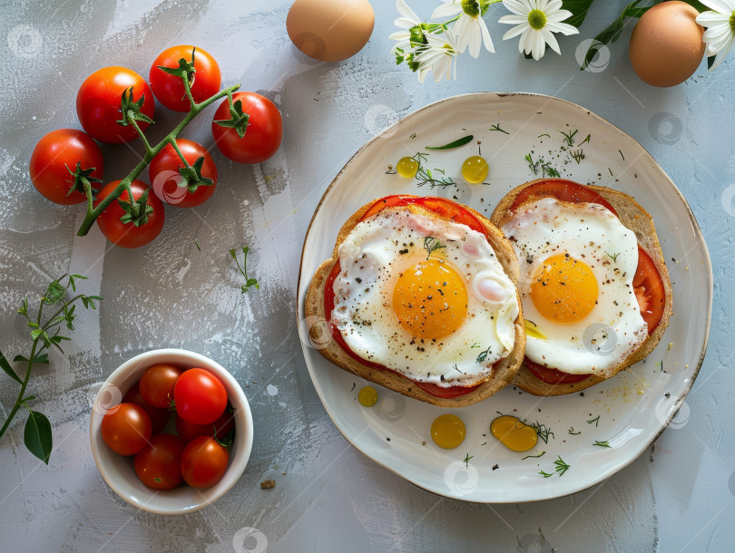
{"type": "MultiPolygon", "coordinates": [[[[511,217],[510,207],[515,201],[515,197],[526,187],[539,182],[540,179],[526,182],[515,189],[508,192],[503,199],[497,204],[493,215],[490,217],[490,221],[498,228],[502,228],[508,218],[511,217]]],[[[544,179],[549,180],[549,179],[544,179]]],[[[662,277],[664,293],[666,295],[666,305],[663,309],[663,316],[661,323],[653,331],[652,335],[646,338],[638,349],[636,349],[615,369],[610,376],[617,374],[622,369],[625,369],[632,364],[636,364],[641,361],[646,355],[650,354],[653,349],[661,342],[663,332],[666,330],[666,326],[669,325],[669,319],[671,318],[672,302],[671,302],[671,279],[669,278],[669,271],[666,268],[666,263],[663,260],[663,253],[661,245],[659,244],[659,238],[656,235],[656,228],[653,225],[653,219],[648,212],[641,207],[641,205],[632,199],[631,196],[621,192],[619,190],[608,189],[601,186],[594,186],[591,184],[584,185],[589,189],[593,189],[595,192],[600,194],[606,199],[617,211],[618,217],[622,224],[630,228],[635,232],[638,243],[646,253],[652,258],[653,263],[659,271],[662,277]]],[[[521,370],[516,374],[513,383],[518,386],[524,392],[533,393],[534,395],[564,395],[566,393],[574,393],[589,388],[594,384],[601,383],[605,378],[600,376],[591,376],[579,383],[565,383],[565,384],[547,384],[540,381],[532,374],[525,364],[521,367],[521,370]]]]}

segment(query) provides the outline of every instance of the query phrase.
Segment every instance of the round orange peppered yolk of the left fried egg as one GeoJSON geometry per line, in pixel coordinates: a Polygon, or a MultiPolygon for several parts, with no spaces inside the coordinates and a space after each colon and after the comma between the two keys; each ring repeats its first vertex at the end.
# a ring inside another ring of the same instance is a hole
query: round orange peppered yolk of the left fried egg
{"type": "Polygon", "coordinates": [[[465,281],[445,260],[429,257],[398,276],[393,312],[414,337],[436,340],[450,335],[467,315],[465,281]]]}

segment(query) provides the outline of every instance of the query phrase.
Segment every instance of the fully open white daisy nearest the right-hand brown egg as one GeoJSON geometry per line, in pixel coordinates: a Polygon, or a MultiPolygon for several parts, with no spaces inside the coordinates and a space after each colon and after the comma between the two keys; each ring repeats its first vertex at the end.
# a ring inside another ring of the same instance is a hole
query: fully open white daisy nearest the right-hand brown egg
{"type": "MultiPolygon", "coordinates": [[[[722,1],[731,0],[720,0],[722,1]]],[[[562,0],[503,0],[503,5],[513,12],[513,15],[504,15],[498,23],[515,24],[515,27],[503,35],[503,40],[520,34],[518,50],[532,54],[536,61],[544,56],[546,44],[549,44],[555,53],[562,53],[554,33],[567,35],[579,33],[573,25],[562,23],[572,15],[569,10],[561,9],[562,0]]]]}

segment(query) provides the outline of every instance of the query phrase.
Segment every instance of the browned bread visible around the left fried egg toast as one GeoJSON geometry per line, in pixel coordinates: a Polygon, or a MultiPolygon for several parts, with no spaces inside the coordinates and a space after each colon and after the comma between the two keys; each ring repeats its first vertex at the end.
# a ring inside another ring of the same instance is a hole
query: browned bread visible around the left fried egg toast
{"type": "MultiPolygon", "coordinates": [[[[498,364],[492,376],[485,383],[471,393],[466,393],[456,398],[439,398],[430,393],[426,393],[424,390],[419,388],[416,382],[392,374],[387,371],[381,371],[379,369],[373,369],[365,364],[359,363],[356,359],[347,354],[335,341],[330,333],[329,325],[323,324],[325,319],[324,314],[324,288],[327,282],[329,273],[337,263],[338,247],[347,238],[348,234],[358,224],[363,214],[372,206],[375,201],[371,201],[358,209],[352,217],[348,218],[342,228],[339,230],[337,241],[332,252],[332,257],[324,261],[317,269],[316,274],[309,284],[307,290],[306,299],[304,301],[304,314],[307,317],[307,321],[311,322],[309,325],[309,336],[314,344],[319,344],[319,353],[327,358],[331,363],[336,364],[338,367],[348,371],[349,373],[356,374],[360,378],[364,378],[372,383],[377,383],[381,386],[385,386],[398,393],[407,395],[408,397],[416,398],[422,402],[431,403],[440,407],[466,407],[472,405],[487,397],[490,397],[494,393],[498,392],[510,383],[515,374],[518,372],[521,363],[524,360],[525,353],[525,329],[524,329],[524,318],[523,308],[521,306],[521,298],[518,296],[516,290],[516,301],[518,302],[518,317],[515,319],[515,345],[513,351],[498,364]],[[309,318],[312,317],[312,318],[309,318]],[[322,323],[322,324],[319,324],[322,323]]],[[[488,242],[495,250],[500,264],[505,269],[507,276],[517,284],[519,277],[518,262],[515,258],[515,252],[511,243],[503,236],[490,221],[474,209],[470,209],[466,206],[462,206],[463,209],[471,212],[485,228],[485,234],[488,237],[488,242]]],[[[436,217],[436,213],[428,211],[418,205],[410,205],[408,209],[414,212],[430,213],[433,217],[436,217]]]]}

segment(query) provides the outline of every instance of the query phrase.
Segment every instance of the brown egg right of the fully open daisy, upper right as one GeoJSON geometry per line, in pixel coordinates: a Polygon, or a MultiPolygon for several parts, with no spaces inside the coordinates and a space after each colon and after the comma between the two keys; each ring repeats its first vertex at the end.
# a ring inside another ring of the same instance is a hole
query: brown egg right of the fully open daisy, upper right
{"type": "Polygon", "coordinates": [[[663,2],[642,15],[631,35],[635,73],[653,86],[674,86],[697,71],[704,29],[694,21],[699,12],[684,2],[663,2]]]}

